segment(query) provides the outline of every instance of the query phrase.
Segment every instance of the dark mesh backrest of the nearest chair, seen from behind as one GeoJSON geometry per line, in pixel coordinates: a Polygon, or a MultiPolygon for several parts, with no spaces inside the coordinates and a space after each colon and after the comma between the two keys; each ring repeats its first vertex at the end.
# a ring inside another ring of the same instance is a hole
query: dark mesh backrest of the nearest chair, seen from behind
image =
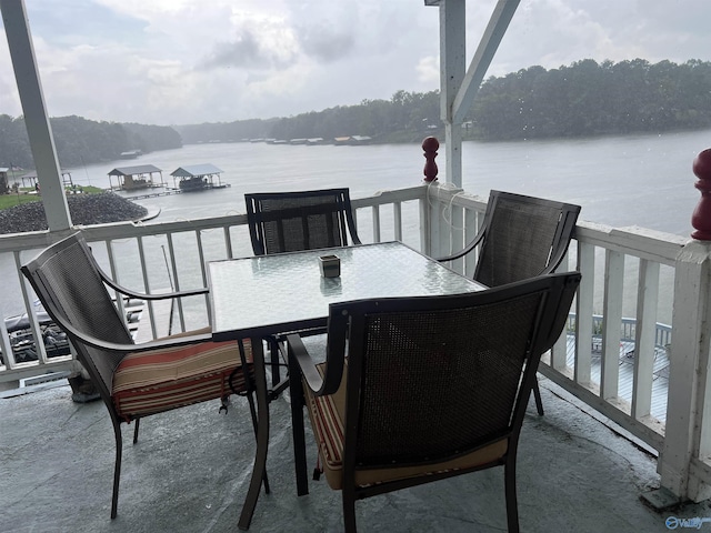
{"type": "Polygon", "coordinates": [[[344,475],[504,438],[515,446],[541,353],[579,282],[569,272],[463,295],[331,304],[328,361],[348,345],[344,475]]]}

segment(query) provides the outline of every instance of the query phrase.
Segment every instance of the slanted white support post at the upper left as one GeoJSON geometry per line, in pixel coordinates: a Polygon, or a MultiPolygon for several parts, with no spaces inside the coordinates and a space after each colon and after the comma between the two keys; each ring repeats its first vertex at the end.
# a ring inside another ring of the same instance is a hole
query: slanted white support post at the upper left
{"type": "Polygon", "coordinates": [[[22,0],[0,0],[14,78],[20,93],[24,125],[37,168],[47,223],[50,231],[71,228],[52,128],[32,47],[32,36],[22,0]]]}

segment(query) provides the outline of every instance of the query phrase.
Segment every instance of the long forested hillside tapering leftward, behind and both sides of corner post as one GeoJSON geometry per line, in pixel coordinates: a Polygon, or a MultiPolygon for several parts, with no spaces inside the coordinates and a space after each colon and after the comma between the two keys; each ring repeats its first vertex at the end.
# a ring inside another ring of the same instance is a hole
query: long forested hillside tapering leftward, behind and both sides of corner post
{"type": "MultiPolygon", "coordinates": [[[[418,141],[439,128],[439,92],[398,91],[391,100],[270,121],[179,127],[187,143],[243,138],[370,135],[418,141]]],[[[491,77],[474,99],[465,137],[487,141],[711,128],[711,62],[592,59],[491,77]]]]}

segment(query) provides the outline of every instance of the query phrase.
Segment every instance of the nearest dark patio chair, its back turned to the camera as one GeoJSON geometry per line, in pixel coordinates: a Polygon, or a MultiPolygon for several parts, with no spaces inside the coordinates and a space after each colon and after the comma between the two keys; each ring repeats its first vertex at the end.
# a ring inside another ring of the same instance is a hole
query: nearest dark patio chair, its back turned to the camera
{"type": "Polygon", "coordinates": [[[331,304],[318,365],[289,335],[299,495],[308,493],[306,404],[347,532],[357,500],[493,466],[503,466],[509,531],[519,531],[521,424],[579,282],[577,272],[549,274],[470,294],[331,304]]]}

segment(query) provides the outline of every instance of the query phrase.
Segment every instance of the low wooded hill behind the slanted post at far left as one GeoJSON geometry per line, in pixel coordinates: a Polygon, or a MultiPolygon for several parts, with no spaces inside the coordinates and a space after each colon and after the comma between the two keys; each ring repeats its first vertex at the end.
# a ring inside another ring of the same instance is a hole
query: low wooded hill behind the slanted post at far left
{"type": "MultiPolygon", "coordinates": [[[[172,128],[96,122],[81,117],[50,120],[57,154],[62,168],[119,159],[121,152],[151,152],[182,147],[172,128]]],[[[32,153],[22,118],[0,114],[0,167],[33,169],[32,153]]]]}

